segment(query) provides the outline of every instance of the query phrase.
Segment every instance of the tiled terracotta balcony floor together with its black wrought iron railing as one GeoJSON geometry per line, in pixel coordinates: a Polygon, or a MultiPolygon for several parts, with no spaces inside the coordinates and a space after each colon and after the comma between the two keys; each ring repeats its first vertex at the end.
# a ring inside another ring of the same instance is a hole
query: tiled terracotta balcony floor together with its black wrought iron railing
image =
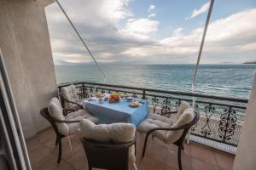
{"type": "MultiPolygon", "coordinates": [[[[96,92],[128,94],[148,99],[150,111],[166,117],[176,116],[182,100],[192,103],[200,113],[200,121],[191,128],[189,144],[184,144],[182,152],[183,169],[232,169],[241,126],[245,117],[246,99],[223,98],[203,94],[190,94],[148,88],[134,88],[95,82],[70,82],[60,84],[59,88],[74,84],[78,94],[96,92]]],[[[178,169],[177,146],[164,144],[154,138],[149,139],[148,151],[142,158],[143,139],[137,133],[138,169],[178,169]]],[[[67,138],[63,140],[61,163],[58,165],[55,147],[55,132],[48,128],[32,139],[26,140],[32,169],[87,169],[87,160],[81,143],[81,134],[70,136],[72,150],[67,138]]],[[[131,168],[132,169],[132,168],[131,168]]]]}

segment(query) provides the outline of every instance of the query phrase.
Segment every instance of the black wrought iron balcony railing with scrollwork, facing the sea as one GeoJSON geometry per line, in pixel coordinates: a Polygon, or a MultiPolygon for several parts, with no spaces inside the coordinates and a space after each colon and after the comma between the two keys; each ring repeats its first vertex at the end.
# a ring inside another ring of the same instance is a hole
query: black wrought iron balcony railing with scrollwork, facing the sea
{"type": "Polygon", "coordinates": [[[192,94],[150,88],[135,88],[95,82],[71,82],[59,85],[59,88],[74,84],[80,94],[96,92],[128,94],[133,97],[148,99],[151,111],[162,116],[175,116],[182,100],[192,105],[195,98],[195,109],[199,111],[200,121],[191,128],[191,134],[211,139],[222,144],[237,146],[244,122],[247,99],[234,99],[205,94],[192,94]]]}

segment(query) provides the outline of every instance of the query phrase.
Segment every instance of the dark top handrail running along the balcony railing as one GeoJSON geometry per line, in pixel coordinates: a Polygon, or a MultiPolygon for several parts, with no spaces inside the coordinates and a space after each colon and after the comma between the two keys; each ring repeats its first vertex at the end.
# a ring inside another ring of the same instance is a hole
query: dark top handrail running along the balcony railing
{"type": "MultiPolygon", "coordinates": [[[[242,102],[242,103],[248,102],[248,99],[238,99],[238,98],[236,99],[236,98],[223,97],[223,96],[217,96],[217,95],[195,94],[190,92],[169,91],[169,90],[161,90],[161,89],[153,89],[153,88],[137,88],[137,87],[124,86],[124,85],[103,84],[98,82],[75,82],[73,84],[77,85],[80,83],[85,83],[85,84],[90,84],[95,86],[110,87],[110,88],[129,88],[133,90],[143,90],[143,91],[154,92],[154,93],[186,95],[190,97],[198,97],[198,98],[206,98],[206,99],[228,100],[228,101],[242,102]]],[[[68,84],[67,82],[65,83],[65,85],[62,85],[62,84],[58,85],[58,87],[61,88],[61,87],[68,86],[70,84],[71,83],[68,84]]]]}

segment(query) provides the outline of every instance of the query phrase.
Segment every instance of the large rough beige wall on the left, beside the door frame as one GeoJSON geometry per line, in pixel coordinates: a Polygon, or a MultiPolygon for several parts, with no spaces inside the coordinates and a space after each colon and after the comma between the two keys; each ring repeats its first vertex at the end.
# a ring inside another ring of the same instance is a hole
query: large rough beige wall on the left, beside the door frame
{"type": "Polygon", "coordinates": [[[26,138],[49,126],[39,111],[56,95],[45,2],[0,0],[0,48],[26,138]]]}

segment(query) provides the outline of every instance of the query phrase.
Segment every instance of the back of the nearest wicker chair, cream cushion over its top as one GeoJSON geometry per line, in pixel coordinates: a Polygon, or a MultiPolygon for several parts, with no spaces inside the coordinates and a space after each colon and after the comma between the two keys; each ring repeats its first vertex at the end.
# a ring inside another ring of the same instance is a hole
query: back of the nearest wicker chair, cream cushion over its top
{"type": "Polygon", "coordinates": [[[130,123],[96,125],[83,120],[80,122],[80,128],[89,168],[128,169],[131,145],[135,144],[136,140],[134,125],[130,123]]]}

